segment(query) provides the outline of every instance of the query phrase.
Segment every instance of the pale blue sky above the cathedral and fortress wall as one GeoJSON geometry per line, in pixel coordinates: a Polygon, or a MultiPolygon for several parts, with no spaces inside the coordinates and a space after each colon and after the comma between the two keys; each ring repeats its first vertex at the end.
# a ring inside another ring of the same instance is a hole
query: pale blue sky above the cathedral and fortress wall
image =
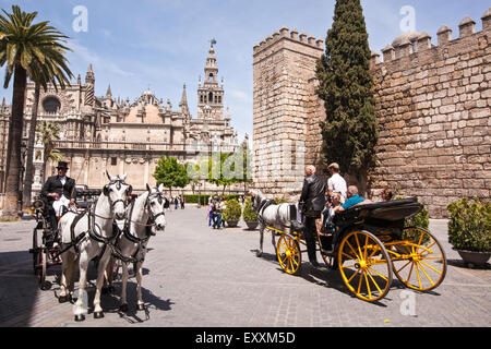
{"type": "MultiPolygon", "coordinates": [[[[196,89],[211,38],[215,46],[219,77],[225,81],[225,104],[240,139],[252,136],[252,48],[283,26],[296,27],[325,38],[332,25],[334,0],[0,0],[11,11],[19,4],[24,11],[38,11],[37,21],[52,25],[71,37],[70,68],[84,80],[94,65],[96,95],[106,94],[130,100],[151,88],[177,109],[182,85],[196,118],[196,89]],[[87,9],[87,32],[73,31],[76,5],[87,9]]],[[[484,0],[362,0],[372,49],[380,51],[402,33],[400,9],[415,9],[418,32],[428,32],[436,44],[436,32],[446,24],[458,36],[458,23],[469,15],[481,31],[481,15],[490,3],[484,0]]],[[[0,75],[3,77],[4,69],[0,75]]],[[[12,81],[13,84],[13,81],[12,81]]],[[[0,88],[0,98],[10,103],[12,86],[0,88]]]]}

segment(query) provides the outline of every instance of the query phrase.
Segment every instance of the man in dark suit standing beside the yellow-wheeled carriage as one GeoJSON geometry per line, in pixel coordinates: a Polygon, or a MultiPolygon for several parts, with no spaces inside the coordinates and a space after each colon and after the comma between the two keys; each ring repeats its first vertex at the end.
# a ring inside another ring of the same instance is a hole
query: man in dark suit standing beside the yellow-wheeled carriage
{"type": "Polygon", "coordinates": [[[307,252],[310,263],[318,267],[318,258],[315,255],[315,219],[321,218],[321,213],[325,206],[326,184],[324,179],[315,174],[315,167],[306,167],[306,179],[303,181],[302,194],[300,203],[302,214],[306,217],[306,242],[307,252]]]}

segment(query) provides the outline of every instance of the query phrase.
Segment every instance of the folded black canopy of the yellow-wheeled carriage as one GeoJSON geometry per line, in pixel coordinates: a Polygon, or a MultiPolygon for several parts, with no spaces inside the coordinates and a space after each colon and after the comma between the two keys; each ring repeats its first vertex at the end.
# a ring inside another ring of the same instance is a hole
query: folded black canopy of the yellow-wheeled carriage
{"type": "Polygon", "coordinates": [[[404,200],[359,205],[340,212],[336,214],[336,216],[340,220],[370,218],[385,221],[399,221],[419,214],[423,206],[418,203],[418,197],[415,196],[404,200]]]}

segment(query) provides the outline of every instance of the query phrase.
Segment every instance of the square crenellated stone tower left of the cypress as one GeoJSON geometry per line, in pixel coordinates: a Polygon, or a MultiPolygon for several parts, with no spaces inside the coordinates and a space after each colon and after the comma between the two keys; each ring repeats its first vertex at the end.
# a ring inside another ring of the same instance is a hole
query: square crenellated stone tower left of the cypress
{"type": "Polygon", "coordinates": [[[320,155],[314,81],[323,48],[286,27],[254,46],[254,185],[274,196],[298,195],[304,165],[320,155]]]}

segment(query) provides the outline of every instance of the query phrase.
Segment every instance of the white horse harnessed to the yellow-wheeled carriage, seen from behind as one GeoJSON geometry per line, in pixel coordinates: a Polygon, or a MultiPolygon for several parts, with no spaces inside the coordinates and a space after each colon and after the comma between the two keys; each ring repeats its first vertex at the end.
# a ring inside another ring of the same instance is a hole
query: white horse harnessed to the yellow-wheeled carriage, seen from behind
{"type": "MultiPolygon", "coordinates": [[[[290,205],[288,203],[284,203],[280,205],[275,205],[272,202],[266,200],[263,193],[260,190],[251,191],[252,194],[252,209],[258,213],[258,218],[260,221],[260,249],[256,253],[258,257],[263,255],[263,240],[264,240],[264,229],[266,226],[284,230],[285,227],[290,227],[290,205]]],[[[273,248],[276,253],[276,232],[271,230],[271,242],[273,243],[273,248]]]]}

